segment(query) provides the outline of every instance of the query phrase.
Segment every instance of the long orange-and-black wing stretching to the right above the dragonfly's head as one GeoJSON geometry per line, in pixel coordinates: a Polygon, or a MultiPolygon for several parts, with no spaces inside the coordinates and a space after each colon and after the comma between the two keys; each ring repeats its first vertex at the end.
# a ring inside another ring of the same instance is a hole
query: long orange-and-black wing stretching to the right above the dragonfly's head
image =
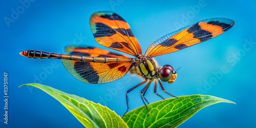
{"type": "Polygon", "coordinates": [[[182,50],[212,39],[224,33],[233,25],[234,21],[227,18],[203,20],[159,38],[146,50],[145,55],[154,57],[182,50]]]}

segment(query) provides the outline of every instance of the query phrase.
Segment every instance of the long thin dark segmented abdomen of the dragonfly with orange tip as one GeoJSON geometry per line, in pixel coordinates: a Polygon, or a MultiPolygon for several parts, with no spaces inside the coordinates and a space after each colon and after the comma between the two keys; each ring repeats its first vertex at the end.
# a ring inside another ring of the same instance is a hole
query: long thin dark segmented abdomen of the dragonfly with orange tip
{"type": "Polygon", "coordinates": [[[43,52],[43,51],[37,51],[37,50],[27,50],[27,51],[20,52],[19,54],[28,58],[69,59],[69,60],[101,62],[101,63],[128,62],[132,60],[132,58],[90,57],[90,56],[55,54],[55,53],[43,52]]]}

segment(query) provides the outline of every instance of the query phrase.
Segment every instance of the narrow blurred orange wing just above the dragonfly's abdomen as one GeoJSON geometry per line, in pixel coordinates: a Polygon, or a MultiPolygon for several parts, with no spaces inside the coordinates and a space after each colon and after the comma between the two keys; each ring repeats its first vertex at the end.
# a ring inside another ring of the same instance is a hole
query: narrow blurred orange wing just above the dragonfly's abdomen
{"type": "Polygon", "coordinates": [[[113,52],[96,48],[96,47],[88,47],[88,46],[82,46],[82,47],[68,46],[65,48],[65,51],[70,55],[79,55],[79,56],[130,58],[125,55],[113,53],[113,52]]]}

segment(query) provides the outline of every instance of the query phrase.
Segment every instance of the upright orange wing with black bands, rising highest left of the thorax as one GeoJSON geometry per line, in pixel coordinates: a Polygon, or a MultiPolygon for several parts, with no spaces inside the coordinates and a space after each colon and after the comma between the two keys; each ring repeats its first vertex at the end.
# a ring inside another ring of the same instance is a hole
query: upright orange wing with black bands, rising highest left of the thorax
{"type": "Polygon", "coordinates": [[[130,26],[114,12],[97,12],[90,18],[95,40],[105,47],[135,56],[141,48],[130,26]]]}

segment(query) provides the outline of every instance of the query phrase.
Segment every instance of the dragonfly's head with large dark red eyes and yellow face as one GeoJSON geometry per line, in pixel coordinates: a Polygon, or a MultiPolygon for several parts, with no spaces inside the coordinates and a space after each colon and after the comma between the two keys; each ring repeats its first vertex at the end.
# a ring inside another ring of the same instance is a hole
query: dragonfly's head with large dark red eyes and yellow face
{"type": "Polygon", "coordinates": [[[173,83],[177,78],[177,73],[174,68],[170,65],[164,65],[163,67],[158,68],[159,78],[163,82],[173,83]]]}

